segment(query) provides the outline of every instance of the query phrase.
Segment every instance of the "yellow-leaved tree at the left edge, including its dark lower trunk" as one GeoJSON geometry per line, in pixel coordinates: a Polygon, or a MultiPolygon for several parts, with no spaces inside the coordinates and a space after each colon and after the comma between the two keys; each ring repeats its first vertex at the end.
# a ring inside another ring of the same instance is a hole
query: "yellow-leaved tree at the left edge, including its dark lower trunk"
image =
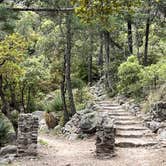
{"type": "Polygon", "coordinates": [[[12,121],[11,112],[19,109],[16,102],[16,88],[20,77],[24,74],[21,62],[24,60],[27,51],[27,42],[19,34],[7,36],[0,42],[0,97],[2,112],[11,120],[15,131],[17,124],[12,121]],[[9,100],[7,90],[11,95],[9,100]]]}

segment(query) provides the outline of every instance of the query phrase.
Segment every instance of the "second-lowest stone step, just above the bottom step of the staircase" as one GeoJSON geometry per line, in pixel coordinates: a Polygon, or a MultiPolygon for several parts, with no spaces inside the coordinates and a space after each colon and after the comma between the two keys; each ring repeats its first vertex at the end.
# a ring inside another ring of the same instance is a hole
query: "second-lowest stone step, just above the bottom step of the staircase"
{"type": "Polygon", "coordinates": [[[132,130],[127,130],[127,131],[120,131],[117,130],[116,132],[117,137],[123,137],[123,138],[142,138],[142,137],[152,137],[153,134],[148,131],[148,130],[137,130],[137,131],[132,131],[132,130]]]}

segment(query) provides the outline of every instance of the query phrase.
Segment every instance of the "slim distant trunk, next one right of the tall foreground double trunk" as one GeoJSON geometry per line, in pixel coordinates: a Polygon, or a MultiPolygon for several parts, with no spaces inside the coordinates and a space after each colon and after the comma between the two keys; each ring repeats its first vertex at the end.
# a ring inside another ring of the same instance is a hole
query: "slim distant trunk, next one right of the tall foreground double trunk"
{"type": "Polygon", "coordinates": [[[92,32],[90,34],[90,45],[91,50],[88,57],[88,83],[91,86],[92,85],[92,54],[93,54],[93,35],[92,32]]]}

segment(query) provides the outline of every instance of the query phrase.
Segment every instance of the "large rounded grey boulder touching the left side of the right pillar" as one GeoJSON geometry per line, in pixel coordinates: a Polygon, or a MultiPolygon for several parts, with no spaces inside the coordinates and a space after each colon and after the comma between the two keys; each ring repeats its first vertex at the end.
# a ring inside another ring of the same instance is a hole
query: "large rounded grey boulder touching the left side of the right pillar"
{"type": "Polygon", "coordinates": [[[80,129],[83,133],[93,134],[96,132],[97,114],[96,112],[83,115],[80,121],[80,129]]]}

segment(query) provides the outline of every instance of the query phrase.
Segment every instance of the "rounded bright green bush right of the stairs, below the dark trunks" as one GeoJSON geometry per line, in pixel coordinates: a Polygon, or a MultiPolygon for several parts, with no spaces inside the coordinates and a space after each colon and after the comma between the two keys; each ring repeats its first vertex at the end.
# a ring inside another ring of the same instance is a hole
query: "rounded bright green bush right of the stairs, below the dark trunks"
{"type": "Polygon", "coordinates": [[[130,56],[127,62],[122,63],[118,68],[118,77],[120,79],[118,89],[126,95],[139,95],[141,90],[140,72],[142,66],[139,64],[136,56],[130,56]]]}

